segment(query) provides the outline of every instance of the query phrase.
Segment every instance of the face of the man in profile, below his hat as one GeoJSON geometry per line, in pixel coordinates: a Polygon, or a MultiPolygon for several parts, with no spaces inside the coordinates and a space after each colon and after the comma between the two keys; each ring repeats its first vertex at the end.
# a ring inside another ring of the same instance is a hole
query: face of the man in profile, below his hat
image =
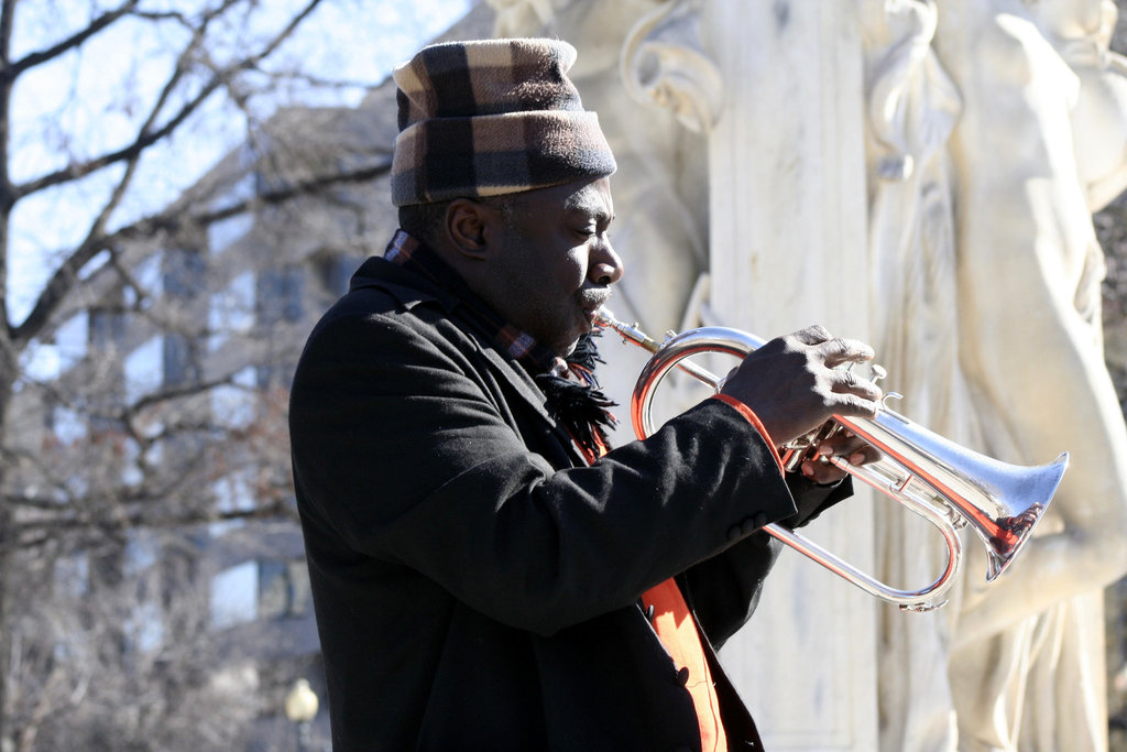
{"type": "Polygon", "coordinates": [[[622,276],[611,248],[610,180],[530,191],[490,237],[489,303],[560,355],[592,329],[595,311],[622,276]]]}

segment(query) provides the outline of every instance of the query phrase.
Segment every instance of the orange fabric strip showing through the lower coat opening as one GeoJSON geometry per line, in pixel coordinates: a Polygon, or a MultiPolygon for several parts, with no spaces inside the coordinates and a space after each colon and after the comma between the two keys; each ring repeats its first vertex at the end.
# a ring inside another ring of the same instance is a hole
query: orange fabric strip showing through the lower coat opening
{"type": "Polygon", "coordinates": [[[716,696],[712,673],[708,670],[696,623],[689,613],[689,604],[685,603],[681,589],[673,580],[666,580],[642,593],[641,602],[647,611],[650,607],[654,608],[654,631],[673,658],[673,664],[680,671],[689,672],[685,689],[696,708],[701,750],[726,752],[728,741],[724,735],[724,724],[720,723],[720,701],[716,696]]]}

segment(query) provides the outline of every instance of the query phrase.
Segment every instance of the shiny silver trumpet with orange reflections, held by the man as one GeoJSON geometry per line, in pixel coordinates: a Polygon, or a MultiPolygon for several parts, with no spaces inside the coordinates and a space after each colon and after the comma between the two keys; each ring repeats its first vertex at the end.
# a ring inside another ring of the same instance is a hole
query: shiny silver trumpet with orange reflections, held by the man
{"type": "MultiPolygon", "coordinates": [[[[639,439],[654,432],[654,393],[674,368],[713,390],[721,388],[722,379],[685,359],[709,352],[745,357],[764,344],[755,335],[738,329],[702,327],[678,335],[671,333],[658,345],[637,326],[615,319],[605,308],[598,312],[596,324],[613,329],[624,342],[654,353],[638,377],[630,402],[631,421],[639,439]]],[[[885,401],[894,397],[900,395],[888,392],[885,401]]],[[[825,430],[851,431],[876,446],[882,455],[877,462],[853,466],[841,458],[829,461],[935,525],[948,550],[947,566],[940,576],[921,590],[897,590],[808,538],[778,524],[765,525],[763,530],[871,595],[902,610],[930,611],[947,602],[940,599],[955,584],[962,558],[958,530],[969,524],[982,539],[988,559],[986,582],[993,582],[1013,563],[1048,508],[1068,466],[1068,453],[1040,467],[1009,465],[916,425],[889,409],[885,401],[871,419],[834,416],[826,426],[787,448],[784,463],[796,466],[804,445],[825,437],[825,430]]]]}

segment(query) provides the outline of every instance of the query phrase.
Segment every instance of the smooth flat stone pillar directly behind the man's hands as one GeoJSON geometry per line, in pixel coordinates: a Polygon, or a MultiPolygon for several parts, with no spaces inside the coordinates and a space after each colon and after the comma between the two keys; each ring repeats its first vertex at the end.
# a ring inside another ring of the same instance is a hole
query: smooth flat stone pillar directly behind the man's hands
{"type": "MultiPolygon", "coordinates": [[[[869,338],[855,3],[712,2],[702,18],[725,85],[709,136],[712,316],[764,337],[818,322],[869,338]]],[[[872,529],[862,490],[808,534],[873,573],[872,529]]],[[[876,614],[870,596],[783,551],[752,625],[721,652],[769,749],[877,749],[876,614]]]]}

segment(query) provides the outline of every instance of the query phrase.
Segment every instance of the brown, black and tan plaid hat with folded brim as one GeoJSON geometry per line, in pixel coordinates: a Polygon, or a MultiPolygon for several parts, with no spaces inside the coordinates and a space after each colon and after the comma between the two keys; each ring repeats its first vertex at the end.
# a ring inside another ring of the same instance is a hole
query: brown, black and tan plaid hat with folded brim
{"type": "Polygon", "coordinates": [[[397,206],[495,196],[615,170],[598,116],[567,77],[576,51],[557,39],[424,47],[394,71],[397,206]]]}

